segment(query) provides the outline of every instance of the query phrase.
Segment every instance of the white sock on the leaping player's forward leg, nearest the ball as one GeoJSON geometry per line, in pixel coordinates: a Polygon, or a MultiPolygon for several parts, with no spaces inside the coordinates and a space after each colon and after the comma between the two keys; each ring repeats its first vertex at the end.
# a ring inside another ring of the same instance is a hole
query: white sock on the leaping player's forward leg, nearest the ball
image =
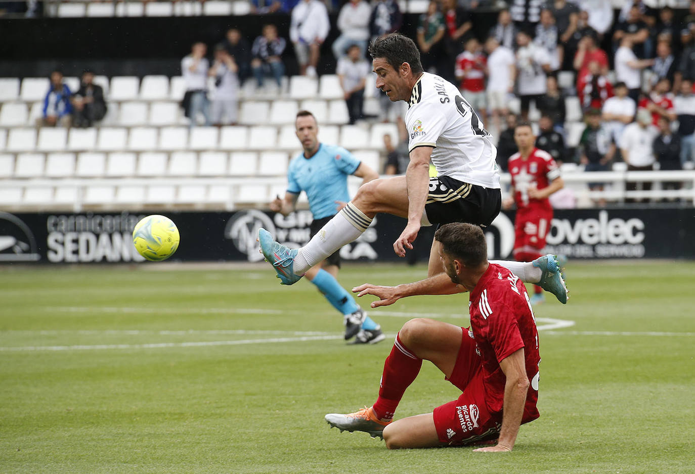
{"type": "Polygon", "coordinates": [[[300,248],[295,257],[293,269],[297,275],[302,275],[312,266],[334,253],[345,244],[350,244],[362,235],[362,232],[372,223],[352,204],[345,208],[314,235],[308,244],[300,248]]]}

